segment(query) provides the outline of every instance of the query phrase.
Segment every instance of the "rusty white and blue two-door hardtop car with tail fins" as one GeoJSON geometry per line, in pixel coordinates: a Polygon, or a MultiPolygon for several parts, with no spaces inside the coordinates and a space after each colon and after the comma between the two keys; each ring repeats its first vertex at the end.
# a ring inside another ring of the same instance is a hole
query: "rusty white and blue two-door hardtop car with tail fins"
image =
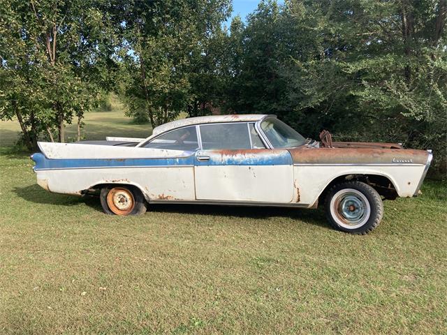
{"type": "Polygon", "coordinates": [[[430,151],[400,144],[306,139],[274,115],[193,117],[146,139],[39,142],[31,158],[47,191],[96,193],[107,214],[142,214],[147,204],[316,208],[344,232],[379,225],[382,199],[418,195],[430,151]]]}

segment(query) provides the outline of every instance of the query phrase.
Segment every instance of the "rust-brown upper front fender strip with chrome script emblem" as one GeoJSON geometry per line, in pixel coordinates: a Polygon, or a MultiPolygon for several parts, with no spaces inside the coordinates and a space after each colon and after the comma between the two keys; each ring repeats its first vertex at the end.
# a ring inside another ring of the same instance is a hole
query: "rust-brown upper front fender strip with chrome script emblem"
{"type": "Polygon", "coordinates": [[[416,149],[315,148],[288,149],[294,164],[425,164],[429,153],[416,149]]]}

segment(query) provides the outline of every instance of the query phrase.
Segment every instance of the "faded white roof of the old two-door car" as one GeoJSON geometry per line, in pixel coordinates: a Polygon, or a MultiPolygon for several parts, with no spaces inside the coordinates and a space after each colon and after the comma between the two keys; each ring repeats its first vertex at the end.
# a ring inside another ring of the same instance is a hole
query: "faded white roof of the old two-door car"
{"type": "MultiPolygon", "coordinates": [[[[229,115],[210,115],[208,117],[189,117],[162,124],[154,128],[152,136],[171,131],[184,126],[193,126],[196,124],[217,124],[221,122],[256,122],[267,117],[268,114],[229,114],[229,115]]],[[[151,137],[152,137],[151,136],[151,137]]]]}

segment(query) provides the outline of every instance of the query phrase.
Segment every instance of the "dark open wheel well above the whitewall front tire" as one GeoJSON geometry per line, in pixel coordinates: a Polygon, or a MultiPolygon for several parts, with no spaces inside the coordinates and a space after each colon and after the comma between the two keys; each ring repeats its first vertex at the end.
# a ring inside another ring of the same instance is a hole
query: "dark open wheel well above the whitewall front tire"
{"type": "Polygon", "coordinates": [[[328,186],[325,187],[324,191],[318,198],[318,202],[324,203],[325,196],[330,188],[345,181],[362,181],[363,183],[374,188],[377,193],[379,193],[379,195],[386,200],[395,200],[395,198],[397,198],[397,191],[393,182],[385,176],[381,176],[379,174],[344,174],[332,180],[328,186]]]}

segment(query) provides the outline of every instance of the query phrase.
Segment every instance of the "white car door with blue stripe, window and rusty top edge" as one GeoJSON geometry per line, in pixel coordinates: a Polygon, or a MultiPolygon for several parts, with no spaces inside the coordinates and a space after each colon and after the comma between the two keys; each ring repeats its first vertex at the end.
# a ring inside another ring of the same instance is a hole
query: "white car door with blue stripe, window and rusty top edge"
{"type": "Polygon", "coordinates": [[[265,149],[254,124],[204,124],[199,133],[202,147],[194,160],[197,200],[291,202],[291,154],[265,149]]]}

